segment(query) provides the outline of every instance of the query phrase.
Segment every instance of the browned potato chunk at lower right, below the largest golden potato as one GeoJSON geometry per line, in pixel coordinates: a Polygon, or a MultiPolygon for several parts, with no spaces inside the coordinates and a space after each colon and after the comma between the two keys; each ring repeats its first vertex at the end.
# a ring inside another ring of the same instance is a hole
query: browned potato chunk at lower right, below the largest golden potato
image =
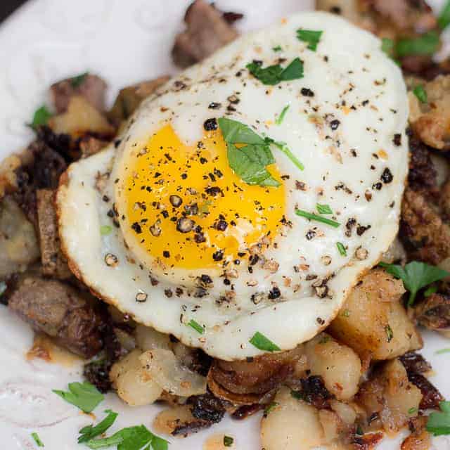
{"type": "Polygon", "coordinates": [[[367,416],[378,413],[383,428],[393,433],[416,415],[422,393],[408,380],[399,359],[387,361],[371,380],[361,386],[356,401],[363,406],[367,416]]]}

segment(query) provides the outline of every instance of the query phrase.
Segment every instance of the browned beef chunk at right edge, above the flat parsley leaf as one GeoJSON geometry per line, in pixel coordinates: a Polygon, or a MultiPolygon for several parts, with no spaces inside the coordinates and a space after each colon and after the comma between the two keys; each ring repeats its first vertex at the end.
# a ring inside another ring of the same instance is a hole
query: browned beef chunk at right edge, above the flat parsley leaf
{"type": "Polygon", "coordinates": [[[399,237],[411,259],[439,264],[450,255],[450,227],[425,195],[406,188],[401,205],[399,237]]]}

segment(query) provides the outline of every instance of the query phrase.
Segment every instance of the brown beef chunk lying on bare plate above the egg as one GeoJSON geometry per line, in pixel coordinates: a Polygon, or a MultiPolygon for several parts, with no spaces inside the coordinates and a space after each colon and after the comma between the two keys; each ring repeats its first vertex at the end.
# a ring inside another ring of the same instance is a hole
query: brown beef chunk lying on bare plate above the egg
{"type": "Polygon", "coordinates": [[[238,37],[221,13],[204,0],[195,0],[188,7],[184,21],[187,29],[178,34],[172,50],[174,62],[181,67],[207,58],[238,37]]]}

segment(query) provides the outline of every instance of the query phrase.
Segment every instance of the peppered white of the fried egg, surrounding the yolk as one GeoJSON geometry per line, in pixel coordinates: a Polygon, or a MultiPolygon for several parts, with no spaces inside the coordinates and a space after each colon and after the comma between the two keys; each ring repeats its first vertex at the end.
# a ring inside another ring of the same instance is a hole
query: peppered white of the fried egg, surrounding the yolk
{"type": "Polygon", "coordinates": [[[397,233],[408,169],[407,117],[406,87],[399,68],[380,50],[377,38],[341,18],[300,13],[240,37],[148,98],[117,149],[110,146],[69,167],[57,205],[60,237],[71,268],[99,297],[136,321],[172,333],[217,358],[261,354],[249,343],[256,331],[281,349],[291,349],[326,327],[359,276],[378,262],[397,233]],[[296,38],[299,28],[323,30],[317,51],[296,38]],[[278,45],[283,50],[274,53],[278,45]],[[304,61],[304,77],[291,82],[265,86],[245,70],[252,60],[262,60],[265,67],[276,58],[285,58],[282,64],[287,65],[297,56],[304,61]],[[302,88],[314,96],[303,95],[302,88]],[[240,102],[236,111],[229,112],[226,99],[236,93],[240,102]],[[221,109],[210,110],[211,102],[221,103],[221,109]],[[285,105],[290,105],[285,119],[274,124],[285,105]],[[111,224],[107,215],[111,203],[103,198],[114,200],[124,161],[136,146],[144,145],[167,123],[181,140],[194,144],[202,136],[205,120],[224,115],[285,141],[305,167],[300,172],[274,150],[279,171],[288,176],[283,182],[286,218],[292,225],[285,226],[276,246],[264,255],[278,262],[278,271],[257,267],[250,274],[248,265],[240,264],[232,302],[217,301],[226,290],[221,278],[214,278],[205,297],[195,298],[189,280],[201,271],[150,277],[139,250],[127,248],[121,229],[114,228],[108,236],[100,233],[101,225],[111,224]],[[332,120],[339,121],[335,129],[332,120]],[[396,134],[401,135],[400,145],[394,143],[396,134]],[[392,181],[382,179],[386,168],[392,181]],[[96,185],[98,174],[108,174],[104,186],[96,185]],[[296,181],[305,190],[298,189],[296,181]],[[316,212],[317,203],[330,205],[338,228],[295,214],[297,207],[316,212]],[[356,221],[350,229],[349,219],[356,221]],[[315,235],[308,239],[311,230],[315,235]],[[337,243],[347,248],[346,256],[340,255],[337,243]],[[109,253],[117,257],[117,265],[105,264],[109,253]],[[318,295],[323,292],[320,281],[327,288],[323,298],[318,295]],[[183,293],[175,295],[180,285],[183,293]],[[281,297],[252,302],[252,295],[267,293],[274,285],[281,297]],[[136,302],[139,293],[147,295],[146,302],[136,302]],[[191,319],[205,326],[205,333],[186,326],[191,319]]]}

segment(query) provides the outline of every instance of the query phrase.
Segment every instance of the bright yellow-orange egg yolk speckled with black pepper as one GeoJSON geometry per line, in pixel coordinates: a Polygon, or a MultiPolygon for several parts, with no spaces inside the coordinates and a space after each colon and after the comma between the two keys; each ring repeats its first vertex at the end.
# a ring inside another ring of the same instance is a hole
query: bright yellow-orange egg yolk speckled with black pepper
{"type": "MultiPolygon", "coordinates": [[[[274,165],[268,169],[281,181],[274,165]]],[[[165,266],[239,264],[252,245],[276,236],[283,221],[283,184],[245,184],[229,167],[219,129],[186,146],[167,125],[132,153],[125,174],[122,226],[165,266]]]]}

